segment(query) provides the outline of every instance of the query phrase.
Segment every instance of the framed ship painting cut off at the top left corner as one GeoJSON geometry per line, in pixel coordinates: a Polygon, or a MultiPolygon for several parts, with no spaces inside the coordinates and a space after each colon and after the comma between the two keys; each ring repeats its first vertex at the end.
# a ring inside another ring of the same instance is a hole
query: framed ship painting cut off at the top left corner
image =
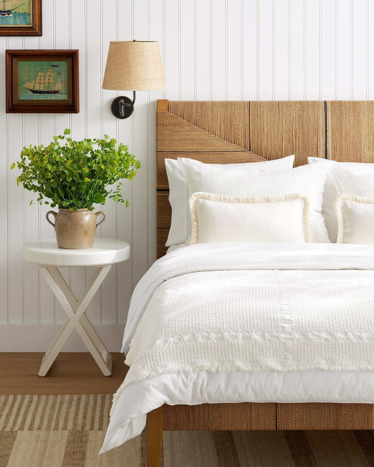
{"type": "Polygon", "coordinates": [[[0,35],[42,35],[42,0],[0,0],[0,35]]]}

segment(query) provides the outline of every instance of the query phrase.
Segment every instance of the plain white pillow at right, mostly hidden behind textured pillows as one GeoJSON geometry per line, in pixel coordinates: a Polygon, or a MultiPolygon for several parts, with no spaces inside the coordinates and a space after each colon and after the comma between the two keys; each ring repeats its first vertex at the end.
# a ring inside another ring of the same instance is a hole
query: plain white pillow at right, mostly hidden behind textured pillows
{"type": "MultiPolygon", "coordinates": [[[[361,162],[336,162],[321,159],[320,157],[308,157],[308,163],[323,163],[327,164],[331,170],[341,169],[348,172],[374,172],[374,164],[361,163],[361,162]]],[[[342,193],[342,191],[340,191],[342,193]]],[[[330,170],[327,172],[326,183],[324,185],[324,202],[322,203],[322,215],[332,243],[335,243],[338,233],[338,225],[334,211],[334,200],[339,193],[335,188],[334,178],[330,170]]]]}

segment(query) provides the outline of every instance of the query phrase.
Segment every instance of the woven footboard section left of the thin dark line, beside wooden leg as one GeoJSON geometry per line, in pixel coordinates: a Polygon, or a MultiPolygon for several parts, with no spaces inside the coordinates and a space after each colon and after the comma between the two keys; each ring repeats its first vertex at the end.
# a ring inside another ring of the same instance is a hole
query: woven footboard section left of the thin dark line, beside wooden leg
{"type": "Polygon", "coordinates": [[[164,430],[275,430],[275,403],[164,405],[164,430]]]}

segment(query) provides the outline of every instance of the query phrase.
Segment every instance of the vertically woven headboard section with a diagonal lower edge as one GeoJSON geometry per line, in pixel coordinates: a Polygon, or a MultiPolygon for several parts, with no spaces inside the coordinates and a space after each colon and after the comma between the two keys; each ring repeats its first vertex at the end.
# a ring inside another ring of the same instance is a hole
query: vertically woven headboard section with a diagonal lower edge
{"type": "Polygon", "coordinates": [[[250,149],[248,101],[169,101],[169,112],[243,149],[250,149]]]}

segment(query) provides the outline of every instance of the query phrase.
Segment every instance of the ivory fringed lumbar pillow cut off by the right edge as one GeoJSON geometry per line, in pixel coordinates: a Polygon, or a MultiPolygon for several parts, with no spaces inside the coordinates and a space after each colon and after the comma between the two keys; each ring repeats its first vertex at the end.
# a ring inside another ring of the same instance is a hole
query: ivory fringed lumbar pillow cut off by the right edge
{"type": "Polygon", "coordinates": [[[374,198],[341,194],[335,198],[337,243],[374,244],[374,198]]]}

